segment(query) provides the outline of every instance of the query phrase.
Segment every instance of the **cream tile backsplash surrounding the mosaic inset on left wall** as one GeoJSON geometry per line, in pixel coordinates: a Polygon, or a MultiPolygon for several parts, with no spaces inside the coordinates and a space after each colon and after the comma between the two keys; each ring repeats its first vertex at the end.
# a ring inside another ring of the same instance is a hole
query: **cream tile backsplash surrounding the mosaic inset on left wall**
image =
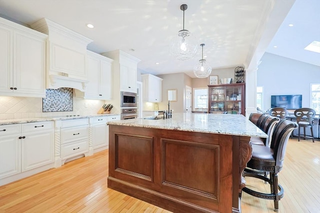
{"type": "Polygon", "coordinates": [[[104,103],[104,100],[86,100],[73,97],[72,111],[42,112],[42,98],[0,96],[0,120],[60,115],[91,115],[96,114],[104,103]],[[87,107],[85,107],[85,103],[87,107]]]}

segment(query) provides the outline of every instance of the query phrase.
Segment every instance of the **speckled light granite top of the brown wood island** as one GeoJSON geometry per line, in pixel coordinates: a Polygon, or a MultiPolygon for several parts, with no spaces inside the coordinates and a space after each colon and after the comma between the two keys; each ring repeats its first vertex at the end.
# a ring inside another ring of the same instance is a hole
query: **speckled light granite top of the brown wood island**
{"type": "Polygon", "coordinates": [[[260,138],[267,137],[263,131],[243,115],[231,114],[173,113],[172,118],[169,119],[128,119],[110,121],[108,124],[260,138]]]}

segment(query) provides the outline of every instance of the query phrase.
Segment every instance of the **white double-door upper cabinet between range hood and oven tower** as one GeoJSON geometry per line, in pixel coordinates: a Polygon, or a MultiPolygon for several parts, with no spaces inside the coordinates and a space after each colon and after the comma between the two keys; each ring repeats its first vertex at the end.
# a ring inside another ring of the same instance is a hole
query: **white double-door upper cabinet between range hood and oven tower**
{"type": "Polygon", "coordinates": [[[77,97],[95,100],[112,98],[112,59],[87,50],[86,69],[88,84],[86,92],[75,90],[77,97]]]}

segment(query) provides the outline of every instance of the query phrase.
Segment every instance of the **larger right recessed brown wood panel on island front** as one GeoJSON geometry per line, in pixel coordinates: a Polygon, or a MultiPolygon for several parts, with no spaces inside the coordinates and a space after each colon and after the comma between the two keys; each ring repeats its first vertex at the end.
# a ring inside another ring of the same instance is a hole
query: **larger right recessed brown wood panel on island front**
{"type": "Polygon", "coordinates": [[[161,144],[163,185],[218,199],[218,145],[169,139],[161,144]]]}

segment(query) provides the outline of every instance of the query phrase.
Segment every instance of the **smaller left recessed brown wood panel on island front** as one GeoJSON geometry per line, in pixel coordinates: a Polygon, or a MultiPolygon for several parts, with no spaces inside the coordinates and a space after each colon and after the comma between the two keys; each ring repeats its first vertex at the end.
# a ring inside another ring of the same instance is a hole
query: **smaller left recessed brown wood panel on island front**
{"type": "Polygon", "coordinates": [[[152,181],[153,139],[116,134],[115,171],[152,181]]]}

